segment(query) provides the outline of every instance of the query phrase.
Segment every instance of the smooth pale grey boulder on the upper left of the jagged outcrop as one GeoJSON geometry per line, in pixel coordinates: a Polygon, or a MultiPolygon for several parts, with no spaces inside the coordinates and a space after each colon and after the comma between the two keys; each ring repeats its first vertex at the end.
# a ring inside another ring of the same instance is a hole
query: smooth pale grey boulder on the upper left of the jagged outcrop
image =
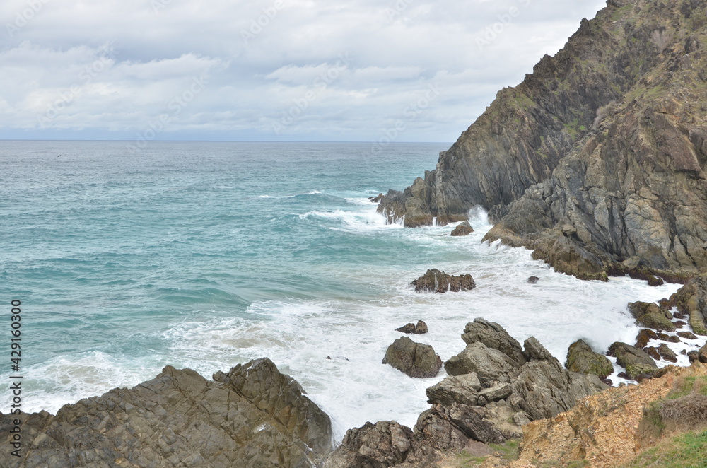
{"type": "Polygon", "coordinates": [[[481,385],[508,382],[508,376],[516,367],[516,362],[507,354],[483,343],[467,344],[464,351],[444,364],[449,375],[476,373],[481,385]]]}

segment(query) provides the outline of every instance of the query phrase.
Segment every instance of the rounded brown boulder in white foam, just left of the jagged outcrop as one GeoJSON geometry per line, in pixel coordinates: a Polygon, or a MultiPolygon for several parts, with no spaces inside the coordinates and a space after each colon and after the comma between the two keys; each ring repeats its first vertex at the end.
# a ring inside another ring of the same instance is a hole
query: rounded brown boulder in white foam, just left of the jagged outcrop
{"type": "Polygon", "coordinates": [[[408,337],[399,338],[388,346],[383,363],[419,378],[436,377],[442,368],[442,359],[432,346],[416,343],[408,337]]]}

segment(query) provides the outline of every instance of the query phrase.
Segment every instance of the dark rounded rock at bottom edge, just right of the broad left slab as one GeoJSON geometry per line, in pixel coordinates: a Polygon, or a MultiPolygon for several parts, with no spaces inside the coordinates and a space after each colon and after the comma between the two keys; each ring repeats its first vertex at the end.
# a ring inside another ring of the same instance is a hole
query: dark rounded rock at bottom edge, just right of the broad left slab
{"type": "Polygon", "coordinates": [[[404,462],[412,450],[412,430],[395,421],[366,423],[346,431],[325,468],[385,468],[404,462]]]}

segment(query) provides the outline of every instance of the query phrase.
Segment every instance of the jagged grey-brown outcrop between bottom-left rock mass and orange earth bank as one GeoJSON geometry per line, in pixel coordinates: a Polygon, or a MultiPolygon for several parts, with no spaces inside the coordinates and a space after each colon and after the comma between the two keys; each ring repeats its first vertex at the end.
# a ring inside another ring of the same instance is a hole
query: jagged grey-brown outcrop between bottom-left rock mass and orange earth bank
{"type": "Polygon", "coordinates": [[[445,363],[450,376],[427,389],[432,407],[413,429],[395,421],[351,429],[326,467],[431,467],[474,441],[520,437],[521,426],[607,388],[596,375],[564,369],[533,337],[520,346],[497,323],[474,320],[462,338],[466,349],[445,363]]]}

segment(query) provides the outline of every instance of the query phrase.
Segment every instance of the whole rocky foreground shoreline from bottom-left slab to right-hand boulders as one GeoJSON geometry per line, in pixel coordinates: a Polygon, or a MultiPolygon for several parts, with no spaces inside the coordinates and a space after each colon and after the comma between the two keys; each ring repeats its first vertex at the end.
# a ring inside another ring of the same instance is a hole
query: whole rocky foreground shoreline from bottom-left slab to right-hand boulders
{"type": "MultiPolygon", "coordinates": [[[[629,308],[637,321],[660,326],[643,329],[636,346],[612,345],[609,354],[626,368],[626,378],[650,381],[667,372],[653,358],[669,357],[649,356],[651,340],[707,335],[699,329],[707,320],[707,274],[659,303],[629,308]],[[665,316],[671,310],[672,321],[665,316]],[[660,318],[647,319],[651,314],[660,318]],[[687,317],[697,325],[692,332],[660,336],[661,329],[672,325],[675,331],[675,321],[687,317]]],[[[417,329],[428,332],[419,322],[401,333],[417,329]]],[[[369,422],[349,429],[335,447],[329,416],[268,358],[218,372],[213,380],[168,366],[153,380],[67,404],[55,416],[0,414],[0,440],[11,440],[19,418],[27,441],[25,456],[3,454],[3,466],[431,467],[469,447],[493,451],[488,444],[520,438],[532,421],[554,418],[609,388],[602,379],[613,372],[612,363],[583,341],[570,346],[565,368],[534,337],[521,345],[483,318],[469,322],[461,338],[464,349],[444,363],[447,376],[426,390],[431,408],[414,428],[369,422]]],[[[403,346],[391,345],[384,363],[394,365],[402,356],[409,367],[396,367],[411,378],[438,373],[442,363],[431,347],[407,337],[398,341],[403,346]],[[409,372],[424,365],[431,372],[409,372]]],[[[707,346],[692,355],[693,361],[707,362],[707,346]]]]}

